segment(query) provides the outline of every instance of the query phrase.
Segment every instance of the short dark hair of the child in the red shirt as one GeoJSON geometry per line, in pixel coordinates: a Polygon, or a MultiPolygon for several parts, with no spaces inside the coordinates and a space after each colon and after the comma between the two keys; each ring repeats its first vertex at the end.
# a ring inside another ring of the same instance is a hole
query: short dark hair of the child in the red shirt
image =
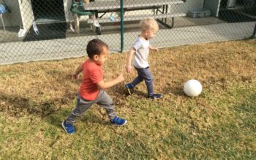
{"type": "Polygon", "coordinates": [[[104,41],[100,39],[92,39],[91,41],[89,41],[86,47],[87,55],[90,58],[93,58],[94,55],[100,55],[103,52],[104,47],[108,48],[108,45],[105,44],[104,41]]]}

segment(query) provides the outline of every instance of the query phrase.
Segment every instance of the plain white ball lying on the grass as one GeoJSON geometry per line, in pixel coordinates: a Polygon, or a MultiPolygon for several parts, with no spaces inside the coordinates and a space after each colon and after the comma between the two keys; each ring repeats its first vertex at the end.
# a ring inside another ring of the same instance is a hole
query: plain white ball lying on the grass
{"type": "Polygon", "coordinates": [[[186,81],[183,89],[186,95],[188,95],[189,97],[196,97],[202,92],[202,88],[203,87],[199,81],[195,79],[190,79],[189,81],[186,81]]]}

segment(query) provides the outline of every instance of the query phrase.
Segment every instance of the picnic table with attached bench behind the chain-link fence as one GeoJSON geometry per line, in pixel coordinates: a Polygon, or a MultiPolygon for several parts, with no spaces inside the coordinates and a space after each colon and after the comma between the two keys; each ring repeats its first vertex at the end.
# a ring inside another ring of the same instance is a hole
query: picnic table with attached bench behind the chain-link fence
{"type": "MultiPolygon", "coordinates": [[[[143,20],[146,17],[153,17],[158,20],[159,23],[165,25],[167,28],[173,28],[174,17],[184,17],[186,13],[175,12],[170,13],[168,11],[168,5],[184,4],[186,0],[124,0],[124,12],[135,11],[135,10],[146,10],[155,9],[155,14],[144,14],[144,15],[132,15],[124,16],[124,21],[135,21],[143,20]],[[172,23],[167,24],[167,17],[172,18],[172,23]]],[[[99,23],[118,23],[121,21],[120,17],[115,17],[110,20],[109,17],[104,17],[106,13],[120,12],[121,2],[120,1],[90,1],[89,3],[83,4],[84,12],[93,12],[99,23]],[[101,15],[100,15],[101,14],[101,15]]],[[[75,28],[79,31],[79,14],[75,15],[75,28]]],[[[87,23],[94,23],[94,18],[87,20],[87,23]]],[[[101,29],[97,29],[98,34],[101,34],[101,29]]]]}

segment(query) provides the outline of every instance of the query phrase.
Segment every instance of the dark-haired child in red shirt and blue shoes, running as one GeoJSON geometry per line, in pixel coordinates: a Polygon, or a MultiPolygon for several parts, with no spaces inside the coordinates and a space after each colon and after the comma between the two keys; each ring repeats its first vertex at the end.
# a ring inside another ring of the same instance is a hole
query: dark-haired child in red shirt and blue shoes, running
{"type": "Polygon", "coordinates": [[[121,119],[116,115],[113,100],[103,90],[124,81],[123,74],[112,81],[103,81],[102,65],[108,57],[108,45],[99,39],[93,39],[87,44],[86,52],[89,59],[79,65],[72,75],[73,79],[78,79],[78,74],[83,71],[83,81],[78,91],[77,104],[67,119],[61,123],[68,134],[75,133],[73,123],[94,103],[105,108],[111,124],[122,126],[127,123],[126,119],[121,119]]]}

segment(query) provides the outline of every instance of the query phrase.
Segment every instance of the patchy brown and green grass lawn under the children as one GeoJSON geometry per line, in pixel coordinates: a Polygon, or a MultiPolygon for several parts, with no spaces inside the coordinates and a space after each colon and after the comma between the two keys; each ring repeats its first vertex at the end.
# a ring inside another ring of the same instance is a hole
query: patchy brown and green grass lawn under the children
{"type": "Polygon", "coordinates": [[[126,54],[111,54],[106,89],[124,127],[113,127],[94,105],[61,128],[75,105],[78,81],[71,75],[85,57],[0,66],[0,159],[256,159],[256,41],[226,41],[160,49],[149,63],[160,100],[146,97],[141,83],[126,96],[126,54]],[[187,97],[184,82],[203,85],[187,97]]]}

